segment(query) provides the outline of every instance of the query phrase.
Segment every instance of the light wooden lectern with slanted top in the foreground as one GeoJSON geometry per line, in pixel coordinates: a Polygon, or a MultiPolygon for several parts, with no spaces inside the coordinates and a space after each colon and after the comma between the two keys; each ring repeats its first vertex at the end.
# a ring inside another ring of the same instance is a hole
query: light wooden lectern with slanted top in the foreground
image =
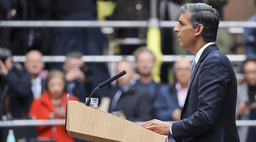
{"type": "Polygon", "coordinates": [[[83,102],[67,103],[66,130],[72,138],[93,142],[167,142],[167,136],[83,102]]]}

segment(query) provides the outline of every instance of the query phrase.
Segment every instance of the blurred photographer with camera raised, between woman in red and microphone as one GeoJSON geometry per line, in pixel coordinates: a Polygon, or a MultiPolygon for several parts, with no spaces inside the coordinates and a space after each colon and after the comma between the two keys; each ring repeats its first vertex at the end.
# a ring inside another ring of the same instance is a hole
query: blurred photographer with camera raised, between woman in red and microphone
{"type": "Polygon", "coordinates": [[[82,56],[83,54],[77,51],[69,52],[66,55],[67,60],[63,64],[63,71],[65,72],[68,93],[76,96],[79,101],[85,103],[85,97],[89,96],[85,85],[90,81],[90,76],[85,76],[85,74],[89,74],[87,73],[89,71],[83,72],[86,66],[81,59],[82,56]]]}

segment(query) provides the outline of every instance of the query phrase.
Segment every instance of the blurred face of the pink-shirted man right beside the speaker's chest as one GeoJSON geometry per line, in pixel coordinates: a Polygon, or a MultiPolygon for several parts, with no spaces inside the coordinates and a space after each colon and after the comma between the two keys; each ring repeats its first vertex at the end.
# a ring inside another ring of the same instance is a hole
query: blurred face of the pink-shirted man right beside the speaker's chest
{"type": "Polygon", "coordinates": [[[191,61],[181,59],[175,63],[175,76],[178,82],[189,83],[191,73],[191,61]]]}

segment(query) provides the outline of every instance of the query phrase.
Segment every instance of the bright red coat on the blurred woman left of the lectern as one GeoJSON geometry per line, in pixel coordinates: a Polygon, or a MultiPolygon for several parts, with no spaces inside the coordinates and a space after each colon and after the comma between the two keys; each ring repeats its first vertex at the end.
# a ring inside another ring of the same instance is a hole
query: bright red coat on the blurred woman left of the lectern
{"type": "MultiPolygon", "coordinates": [[[[78,101],[75,96],[69,95],[69,100],[78,101]]],[[[61,105],[66,111],[67,93],[61,96],[61,105]]],[[[38,99],[31,103],[29,115],[36,119],[49,119],[49,114],[53,111],[54,104],[51,102],[49,91],[45,91],[38,99]]],[[[57,118],[63,119],[63,118],[57,118]]],[[[68,133],[65,133],[65,125],[38,126],[38,137],[54,139],[56,142],[75,142],[68,133]]]]}

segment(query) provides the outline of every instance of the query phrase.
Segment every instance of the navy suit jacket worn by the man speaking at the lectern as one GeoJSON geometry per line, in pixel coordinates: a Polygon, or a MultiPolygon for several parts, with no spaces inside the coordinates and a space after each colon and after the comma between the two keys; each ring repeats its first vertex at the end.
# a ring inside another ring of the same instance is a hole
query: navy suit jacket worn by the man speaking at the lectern
{"type": "Polygon", "coordinates": [[[216,44],[204,49],[189,83],[181,121],[172,123],[176,142],[239,142],[237,84],[228,57],[216,44]]]}

